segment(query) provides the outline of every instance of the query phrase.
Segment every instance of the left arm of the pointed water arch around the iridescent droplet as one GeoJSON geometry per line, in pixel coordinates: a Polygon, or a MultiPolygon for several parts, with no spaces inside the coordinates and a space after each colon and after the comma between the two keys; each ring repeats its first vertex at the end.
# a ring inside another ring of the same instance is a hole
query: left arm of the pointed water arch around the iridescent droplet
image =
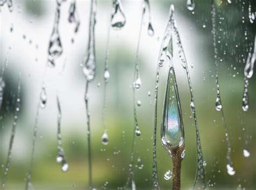
{"type": "Polygon", "coordinates": [[[153,164],[152,164],[152,187],[153,189],[160,189],[158,172],[157,172],[157,99],[158,99],[158,86],[159,86],[159,72],[160,68],[167,58],[172,58],[172,24],[171,19],[173,17],[174,6],[170,6],[169,21],[165,29],[164,38],[161,43],[161,48],[158,57],[156,84],[155,84],[155,97],[154,97],[154,130],[153,130],[153,164]]]}

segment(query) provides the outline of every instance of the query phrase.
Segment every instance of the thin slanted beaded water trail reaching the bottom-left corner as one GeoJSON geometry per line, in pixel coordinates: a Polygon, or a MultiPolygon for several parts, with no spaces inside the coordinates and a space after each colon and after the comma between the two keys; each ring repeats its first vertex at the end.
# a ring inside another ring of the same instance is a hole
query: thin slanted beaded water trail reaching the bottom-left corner
{"type": "Polygon", "coordinates": [[[7,161],[6,161],[6,164],[4,167],[4,171],[3,171],[1,189],[5,188],[6,178],[7,178],[10,163],[11,163],[12,146],[14,145],[16,126],[17,126],[17,121],[18,121],[18,113],[19,113],[20,109],[21,109],[21,73],[19,73],[19,82],[18,82],[18,89],[17,89],[17,96],[16,96],[14,123],[12,123],[11,138],[10,138],[10,143],[9,143],[7,161]]]}

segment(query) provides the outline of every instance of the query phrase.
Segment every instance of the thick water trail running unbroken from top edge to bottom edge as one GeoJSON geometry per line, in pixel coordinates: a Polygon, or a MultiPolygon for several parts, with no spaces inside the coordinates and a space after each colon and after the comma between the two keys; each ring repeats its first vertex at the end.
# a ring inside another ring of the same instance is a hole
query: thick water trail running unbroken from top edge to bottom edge
{"type": "Polygon", "coordinates": [[[96,0],[91,0],[90,22],[89,22],[89,42],[87,52],[83,63],[83,73],[86,78],[85,85],[85,111],[87,119],[87,143],[88,143],[88,164],[89,164],[89,188],[92,188],[92,165],[91,165],[91,130],[90,130],[90,112],[89,112],[89,83],[95,78],[96,60],[95,60],[95,24],[96,24],[96,0]]]}

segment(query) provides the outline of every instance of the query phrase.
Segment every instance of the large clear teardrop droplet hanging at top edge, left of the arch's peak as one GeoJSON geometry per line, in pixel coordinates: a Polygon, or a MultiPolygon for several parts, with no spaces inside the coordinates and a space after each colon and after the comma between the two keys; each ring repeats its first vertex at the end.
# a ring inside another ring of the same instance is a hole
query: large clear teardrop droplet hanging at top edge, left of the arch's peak
{"type": "Polygon", "coordinates": [[[113,29],[121,29],[125,25],[126,18],[120,0],[113,0],[111,25],[113,29]]]}

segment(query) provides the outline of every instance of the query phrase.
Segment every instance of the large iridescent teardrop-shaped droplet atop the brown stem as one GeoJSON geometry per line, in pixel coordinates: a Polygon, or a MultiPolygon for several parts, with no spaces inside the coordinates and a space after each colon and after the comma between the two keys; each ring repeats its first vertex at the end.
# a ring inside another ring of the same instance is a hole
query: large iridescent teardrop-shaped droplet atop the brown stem
{"type": "Polygon", "coordinates": [[[161,123],[161,142],[165,148],[167,146],[181,146],[184,143],[179,93],[172,66],[170,67],[166,84],[163,120],[161,123]]]}

